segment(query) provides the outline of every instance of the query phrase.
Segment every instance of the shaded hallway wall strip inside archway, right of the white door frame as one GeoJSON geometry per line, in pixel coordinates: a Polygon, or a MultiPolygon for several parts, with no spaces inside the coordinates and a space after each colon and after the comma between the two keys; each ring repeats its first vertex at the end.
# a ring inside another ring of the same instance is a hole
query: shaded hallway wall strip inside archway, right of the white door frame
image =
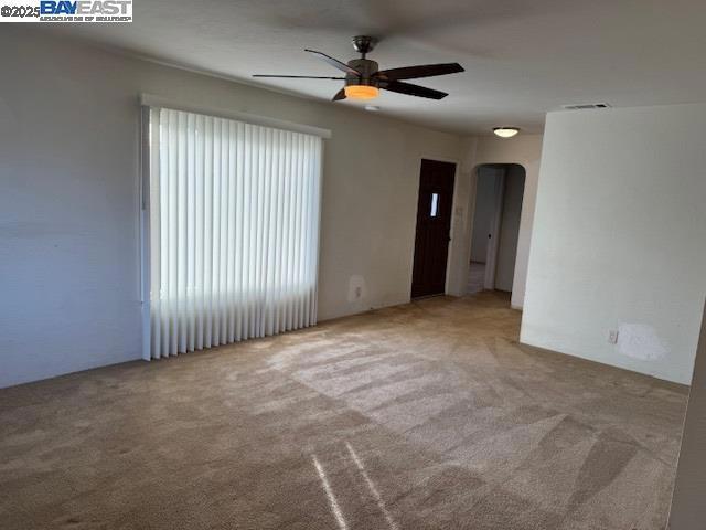
{"type": "Polygon", "coordinates": [[[498,263],[495,265],[495,288],[507,293],[513,290],[524,189],[524,168],[517,165],[506,166],[500,240],[498,242],[498,263]]]}

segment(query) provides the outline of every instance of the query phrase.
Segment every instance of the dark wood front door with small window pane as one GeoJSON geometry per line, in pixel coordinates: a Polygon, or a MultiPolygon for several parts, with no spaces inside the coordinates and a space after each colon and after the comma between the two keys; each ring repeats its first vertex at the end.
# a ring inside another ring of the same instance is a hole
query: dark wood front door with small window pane
{"type": "Polygon", "coordinates": [[[411,297],[443,294],[456,165],[421,160],[411,297]]]}

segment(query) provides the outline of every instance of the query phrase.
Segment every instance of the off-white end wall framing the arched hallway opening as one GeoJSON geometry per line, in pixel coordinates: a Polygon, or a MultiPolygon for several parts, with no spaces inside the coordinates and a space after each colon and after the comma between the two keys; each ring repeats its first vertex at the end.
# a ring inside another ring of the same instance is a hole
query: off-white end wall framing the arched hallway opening
{"type": "Polygon", "coordinates": [[[515,308],[522,308],[525,298],[530,236],[539,174],[542,135],[523,135],[521,132],[510,139],[494,136],[467,138],[463,152],[461,174],[457,179],[453,195],[453,224],[447,292],[460,296],[466,293],[468,285],[477,167],[482,163],[518,163],[525,168],[526,178],[511,304],[515,308]]]}

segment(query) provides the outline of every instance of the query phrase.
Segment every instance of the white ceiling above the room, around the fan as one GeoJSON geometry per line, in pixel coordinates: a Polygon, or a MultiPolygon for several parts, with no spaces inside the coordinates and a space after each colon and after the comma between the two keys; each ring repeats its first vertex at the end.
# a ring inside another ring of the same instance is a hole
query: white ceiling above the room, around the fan
{"type": "MultiPolygon", "coordinates": [[[[419,80],[440,102],[386,93],[383,114],[441,130],[496,125],[541,131],[547,110],[608,102],[706,102],[704,0],[135,0],[131,24],[54,24],[175,65],[252,74],[338,75],[304,53],[355,56],[350,38],[381,38],[382,68],[459,62],[466,73],[419,80]]],[[[330,99],[338,81],[258,80],[330,99]]],[[[354,102],[331,105],[356,105],[354,102]]]]}

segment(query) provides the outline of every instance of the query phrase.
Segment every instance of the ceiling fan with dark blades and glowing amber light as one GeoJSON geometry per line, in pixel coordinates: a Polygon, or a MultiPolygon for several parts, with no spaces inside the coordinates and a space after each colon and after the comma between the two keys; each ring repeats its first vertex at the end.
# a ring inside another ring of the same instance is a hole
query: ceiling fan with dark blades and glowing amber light
{"type": "Polygon", "coordinates": [[[345,86],[335,96],[334,102],[345,99],[373,99],[377,97],[379,89],[407,94],[409,96],[427,97],[429,99],[442,99],[448,94],[435,91],[425,86],[404,83],[403,80],[416,80],[419,77],[435,77],[437,75],[457,74],[464,72],[458,63],[424,64],[418,66],[405,66],[402,68],[378,70],[375,61],[366,59],[373,51],[377,40],[368,35],[357,35],[353,38],[353,47],[361,54],[361,59],[352,59],[343,63],[330,55],[315,50],[304,50],[317,54],[322,61],[329,63],[334,68],[345,74],[345,77],[327,77],[311,75],[263,75],[256,74],[253,77],[281,77],[295,80],[339,80],[344,81],[345,86]]]}

